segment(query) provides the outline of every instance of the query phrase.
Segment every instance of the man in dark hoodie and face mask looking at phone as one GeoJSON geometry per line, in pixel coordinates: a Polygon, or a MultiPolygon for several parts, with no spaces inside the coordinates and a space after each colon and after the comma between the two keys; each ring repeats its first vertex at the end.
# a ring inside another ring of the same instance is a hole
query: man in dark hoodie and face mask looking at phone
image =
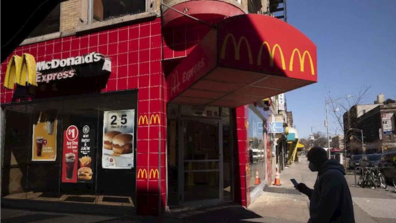
{"type": "Polygon", "coordinates": [[[299,183],[296,188],[310,200],[308,223],[355,223],[343,165],[329,160],[326,150],[321,147],[312,148],[307,158],[309,169],[318,171],[314,189],[304,183],[299,183]]]}

